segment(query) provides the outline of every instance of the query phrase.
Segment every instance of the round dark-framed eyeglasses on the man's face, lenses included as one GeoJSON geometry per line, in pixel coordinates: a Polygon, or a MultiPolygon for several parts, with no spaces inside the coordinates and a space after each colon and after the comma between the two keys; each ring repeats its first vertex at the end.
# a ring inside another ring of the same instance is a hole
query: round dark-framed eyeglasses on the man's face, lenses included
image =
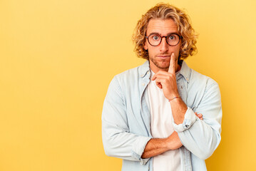
{"type": "Polygon", "coordinates": [[[176,46],[182,37],[177,33],[170,33],[168,36],[160,36],[158,33],[151,33],[149,36],[145,36],[145,38],[148,38],[148,43],[150,43],[151,46],[158,46],[162,42],[162,38],[165,38],[168,45],[176,46]]]}

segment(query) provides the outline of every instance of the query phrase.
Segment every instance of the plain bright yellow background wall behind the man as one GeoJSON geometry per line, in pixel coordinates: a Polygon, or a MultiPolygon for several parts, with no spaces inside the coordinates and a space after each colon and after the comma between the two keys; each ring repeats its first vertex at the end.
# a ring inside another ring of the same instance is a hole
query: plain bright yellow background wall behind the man
{"type": "MultiPolygon", "coordinates": [[[[113,76],[144,62],[131,35],[159,1],[0,0],[0,170],[121,170],[101,140],[113,76]]],[[[198,38],[188,65],[220,85],[222,141],[208,170],[255,170],[256,3],[165,1],[198,38]]]]}

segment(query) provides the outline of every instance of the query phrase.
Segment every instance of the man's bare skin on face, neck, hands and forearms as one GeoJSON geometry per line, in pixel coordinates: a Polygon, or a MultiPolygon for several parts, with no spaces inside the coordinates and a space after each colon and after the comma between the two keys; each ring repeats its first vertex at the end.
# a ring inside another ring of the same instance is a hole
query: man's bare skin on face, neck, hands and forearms
{"type": "MultiPolygon", "coordinates": [[[[150,33],[167,36],[170,33],[178,33],[178,30],[172,19],[151,19],[148,23],[147,36],[150,33]]],[[[185,112],[188,109],[181,98],[173,99],[179,96],[175,73],[180,71],[181,68],[178,65],[180,47],[181,41],[177,46],[169,46],[165,38],[158,46],[151,46],[148,41],[145,41],[144,45],[145,50],[148,50],[150,69],[155,73],[151,80],[163,89],[165,98],[170,100],[173,120],[176,124],[183,123],[185,112]]],[[[202,114],[195,113],[195,115],[203,120],[202,114]]],[[[178,149],[181,146],[183,144],[180,142],[178,133],[173,132],[168,138],[152,138],[149,140],[141,157],[154,157],[168,150],[178,149]]]]}

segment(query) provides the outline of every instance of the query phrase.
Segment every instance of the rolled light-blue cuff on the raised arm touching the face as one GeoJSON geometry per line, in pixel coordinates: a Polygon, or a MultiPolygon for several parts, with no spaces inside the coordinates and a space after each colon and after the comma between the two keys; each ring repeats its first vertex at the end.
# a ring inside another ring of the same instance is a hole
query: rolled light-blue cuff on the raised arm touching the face
{"type": "Polygon", "coordinates": [[[184,115],[183,123],[180,123],[177,125],[176,123],[174,123],[174,120],[173,120],[173,129],[177,133],[181,133],[184,130],[188,130],[193,125],[193,123],[195,123],[195,120],[197,120],[197,118],[198,117],[195,115],[193,110],[188,107],[188,109],[184,115]]]}

